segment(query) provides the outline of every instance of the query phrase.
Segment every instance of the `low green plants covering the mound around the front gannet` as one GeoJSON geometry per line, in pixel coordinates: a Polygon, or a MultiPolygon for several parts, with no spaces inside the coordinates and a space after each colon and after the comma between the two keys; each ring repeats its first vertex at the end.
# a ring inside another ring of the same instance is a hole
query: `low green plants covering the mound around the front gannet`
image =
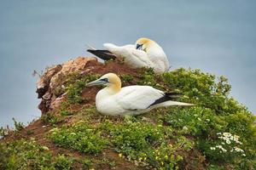
{"type": "Polygon", "coordinates": [[[136,77],[123,74],[120,77],[125,85],[137,83],[181,92],[180,101],[196,105],[160,108],[125,118],[102,116],[94,105],[84,102],[84,85],[97,77],[78,73],[63,77],[60,84],[66,87],[62,90],[67,92],[67,100],[59,111],[41,117],[42,122],[55,125],[47,133],[49,142],[95,160],[49,156],[49,151],[34,141],[19,140],[0,143],[0,169],[70,169],[74,162],[85,169],[105,163],[114,168],[119,164],[117,156],[148,169],[256,169],[255,116],[230,98],[231,86],[225,77],[183,68],[161,75],[152,69],[143,69],[136,77]],[[73,106],[79,107],[73,111],[73,106]],[[68,121],[63,121],[67,116],[68,121]],[[116,157],[98,158],[104,150],[113,150],[116,157]],[[28,153],[32,160],[28,160],[28,153]]]}

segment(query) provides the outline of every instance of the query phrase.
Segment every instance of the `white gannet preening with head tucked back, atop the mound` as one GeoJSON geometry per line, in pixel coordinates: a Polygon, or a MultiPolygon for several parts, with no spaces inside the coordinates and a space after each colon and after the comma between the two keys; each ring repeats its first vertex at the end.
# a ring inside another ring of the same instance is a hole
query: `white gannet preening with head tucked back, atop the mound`
{"type": "Polygon", "coordinates": [[[104,60],[121,57],[125,64],[132,68],[151,67],[157,73],[169,70],[169,61],[164,50],[146,37],[139,38],[135,45],[116,46],[113,43],[104,43],[103,46],[107,50],[88,49],[87,51],[104,60]]]}

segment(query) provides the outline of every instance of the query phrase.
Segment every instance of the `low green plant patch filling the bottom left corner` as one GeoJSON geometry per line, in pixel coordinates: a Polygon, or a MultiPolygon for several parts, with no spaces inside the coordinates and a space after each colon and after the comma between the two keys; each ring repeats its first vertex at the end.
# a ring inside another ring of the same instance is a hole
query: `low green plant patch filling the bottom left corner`
{"type": "Polygon", "coordinates": [[[72,161],[67,161],[69,159],[65,156],[55,159],[48,150],[46,146],[40,146],[33,140],[0,143],[0,169],[71,169],[72,161]]]}

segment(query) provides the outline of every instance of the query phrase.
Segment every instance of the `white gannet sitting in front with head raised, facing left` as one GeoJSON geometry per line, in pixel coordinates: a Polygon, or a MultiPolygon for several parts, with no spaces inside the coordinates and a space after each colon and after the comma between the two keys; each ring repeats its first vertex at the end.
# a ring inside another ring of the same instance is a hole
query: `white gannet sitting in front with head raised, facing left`
{"type": "Polygon", "coordinates": [[[172,101],[179,94],[165,93],[150,86],[121,88],[119,77],[113,73],[108,73],[96,81],[89,82],[86,87],[95,85],[106,86],[96,94],[96,110],[103,115],[139,115],[162,106],[193,105],[172,101]]]}

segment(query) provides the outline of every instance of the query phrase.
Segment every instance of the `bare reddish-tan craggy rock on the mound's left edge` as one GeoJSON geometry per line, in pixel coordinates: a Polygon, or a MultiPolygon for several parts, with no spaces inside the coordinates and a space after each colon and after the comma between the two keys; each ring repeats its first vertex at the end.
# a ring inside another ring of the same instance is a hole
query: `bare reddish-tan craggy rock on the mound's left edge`
{"type": "Polygon", "coordinates": [[[55,88],[61,86],[58,80],[73,72],[90,71],[90,67],[87,67],[90,62],[97,62],[97,60],[94,57],[78,57],[68,60],[62,65],[54,65],[46,69],[37,83],[38,99],[42,99],[38,109],[42,114],[59,108],[61,101],[67,96],[66,93],[55,93],[55,88]]]}

